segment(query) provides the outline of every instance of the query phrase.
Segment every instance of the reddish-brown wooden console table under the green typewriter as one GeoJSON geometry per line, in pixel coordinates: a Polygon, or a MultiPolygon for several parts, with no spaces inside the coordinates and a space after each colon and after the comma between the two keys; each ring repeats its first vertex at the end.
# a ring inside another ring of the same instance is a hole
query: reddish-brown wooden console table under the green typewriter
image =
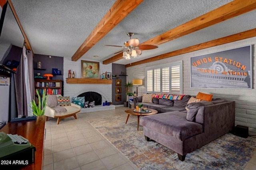
{"type": "Polygon", "coordinates": [[[22,167],[22,170],[41,170],[44,162],[44,124],[45,116],[34,120],[7,123],[0,131],[6,134],[18,134],[28,139],[36,147],[35,162],[22,167]]]}

